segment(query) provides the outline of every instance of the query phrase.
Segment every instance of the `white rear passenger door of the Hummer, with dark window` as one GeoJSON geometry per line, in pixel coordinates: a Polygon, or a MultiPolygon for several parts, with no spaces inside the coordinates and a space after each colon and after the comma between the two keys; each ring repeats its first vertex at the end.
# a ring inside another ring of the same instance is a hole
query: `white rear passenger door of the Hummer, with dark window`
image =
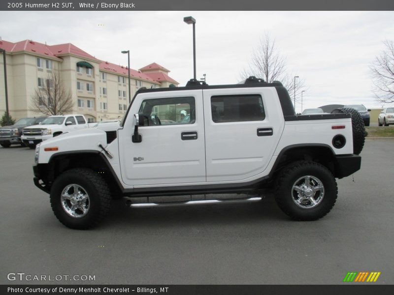
{"type": "Polygon", "coordinates": [[[284,127],[275,88],[204,89],[203,101],[207,181],[263,176],[284,127]]]}

